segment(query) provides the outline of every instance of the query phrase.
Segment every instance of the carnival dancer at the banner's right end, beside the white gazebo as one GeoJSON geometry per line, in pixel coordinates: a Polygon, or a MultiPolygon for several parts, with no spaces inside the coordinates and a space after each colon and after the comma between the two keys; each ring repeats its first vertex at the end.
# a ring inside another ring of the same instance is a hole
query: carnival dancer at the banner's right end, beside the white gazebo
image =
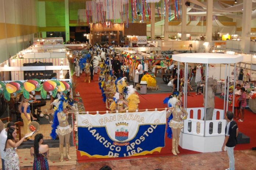
{"type": "Polygon", "coordinates": [[[181,95],[178,91],[174,91],[172,95],[165,98],[163,103],[167,103],[169,107],[166,112],[166,118],[168,118],[167,136],[172,138],[173,155],[177,155],[180,153],[178,150],[180,131],[183,128],[183,120],[187,119],[188,113],[181,107],[181,95]]]}

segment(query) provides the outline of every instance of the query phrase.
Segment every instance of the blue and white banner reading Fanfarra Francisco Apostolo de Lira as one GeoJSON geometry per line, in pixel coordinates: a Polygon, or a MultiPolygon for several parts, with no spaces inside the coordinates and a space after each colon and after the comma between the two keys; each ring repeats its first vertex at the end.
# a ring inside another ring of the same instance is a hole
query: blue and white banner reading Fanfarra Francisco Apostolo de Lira
{"type": "Polygon", "coordinates": [[[152,154],[165,146],[166,111],[77,114],[78,151],[90,158],[152,154]]]}

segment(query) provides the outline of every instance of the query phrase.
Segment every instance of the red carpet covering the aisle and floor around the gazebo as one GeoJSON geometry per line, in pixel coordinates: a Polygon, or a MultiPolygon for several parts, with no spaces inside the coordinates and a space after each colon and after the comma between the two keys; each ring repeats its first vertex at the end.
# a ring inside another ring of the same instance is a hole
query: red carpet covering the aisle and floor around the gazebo
{"type": "MultiPolygon", "coordinates": [[[[80,92],[80,96],[83,99],[83,103],[85,106],[86,111],[105,111],[105,103],[102,101],[101,91],[98,87],[98,76],[94,76],[94,80],[91,83],[84,83],[84,76],[83,78],[77,79],[77,87],[76,91],[80,92]],[[97,81],[97,82],[96,82],[97,81]]],[[[141,95],[139,109],[155,109],[155,108],[165,108],[166,105],[163,104],[163,99],[168,97],[170,94],[145,94],[141,95]]],[[[203,97],[202,95],[194,95],[188,96],[188,107],[203,107],[203,97]]],[[[223,109],[223,99],[215,97],[215,108],[216,109],[223,109]]],[[[232,110],[230,107],[229,110],[232,110]]],[[[250,137],[250,144],[238,144],[235,147],[235,150],[247,150],[251,149],[252,147],[256,147],[256,114],[245,110],[245,120],[244,122],[238,122],[239,131],[244,133],[245,135],[250,137]]],[[[161,152],[154,152],[153,154],[148,154],[146,156],[136,156],[136,158],[145,158],[149,156],[167,156],[172,155],[171,153],[171,140],[166,137],[165,139],[165,147],[162,148],[161,152]]],[[[96,149],[96,148],[95,148],[96,149]]],[[[199,152],[185,150],[179,147],[180,154],[195,154],[199,152]]],[[[115,159],[134,159],[135,157],[131,158],[111,158],[111,160],[115,159]]],[[[87,161],[101,161],[107,159],[95,159],[95,158],[88,158],[87,156],[80,156],[80,153],[77,152],[77,159],[79,162],[87,162],[87,161]]]]}

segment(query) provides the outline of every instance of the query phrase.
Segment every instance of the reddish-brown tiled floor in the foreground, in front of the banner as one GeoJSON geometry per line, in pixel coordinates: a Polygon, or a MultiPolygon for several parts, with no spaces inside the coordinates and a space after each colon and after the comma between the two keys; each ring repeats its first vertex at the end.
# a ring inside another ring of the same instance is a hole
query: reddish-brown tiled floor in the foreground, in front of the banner
{"type": "MultiPolygon", "coordinates": [[[[235,151],[236,170],[256,170],[256,151],[235,151]]],[[[227,152],[165,156],[143,159],[78,163],[70,166],[51,166],[51,170],[99,170],[108,165],[112,170],[224,170],[228,168],[227,152]]],[[[21,167],[32,170],[32,167],[21,167]]]]}

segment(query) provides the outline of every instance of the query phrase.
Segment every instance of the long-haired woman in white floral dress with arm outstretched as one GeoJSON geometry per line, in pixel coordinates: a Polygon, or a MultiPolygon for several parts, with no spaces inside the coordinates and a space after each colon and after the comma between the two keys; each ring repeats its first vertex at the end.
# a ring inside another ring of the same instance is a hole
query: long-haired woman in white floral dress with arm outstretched
{"type": "Polygon", "coordinates": [[[16,148],[21,145],[26,135],[15,143],[17,130],[14,128],[8,129],[6,147],[4,148],[4,151],[6,152],[6,157],[4,157],[4,167],[6,170],[19,170],[19,156],[16,152],[16,148]]]}

